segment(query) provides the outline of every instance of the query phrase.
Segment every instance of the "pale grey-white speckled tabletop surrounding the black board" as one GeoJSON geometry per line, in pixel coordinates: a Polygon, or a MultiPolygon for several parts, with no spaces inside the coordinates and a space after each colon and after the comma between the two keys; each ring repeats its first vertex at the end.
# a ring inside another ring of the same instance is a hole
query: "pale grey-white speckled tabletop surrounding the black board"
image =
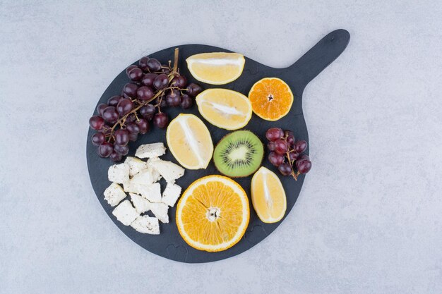
{"type": "Polygon", "coordinates": [[[0,293],[442,293],[441,15],[431,0],[1,1],[0,293]],[[349,46],[304,92],[313,169],[269,238],[181,264],[114,226],[85,137],[125,66],[201,43],[284,67],[337,28],[349,46]]]}

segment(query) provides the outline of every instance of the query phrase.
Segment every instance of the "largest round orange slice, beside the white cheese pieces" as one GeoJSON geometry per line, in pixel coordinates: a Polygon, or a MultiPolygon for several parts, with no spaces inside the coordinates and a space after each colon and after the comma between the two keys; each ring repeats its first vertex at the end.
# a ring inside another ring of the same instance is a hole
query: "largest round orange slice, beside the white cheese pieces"
{"type": "Polygon", "coordinates": [[[241,240],[249,225],[246,192],[225,176],[205,176],[193,182],[177,204],[181,237],[198,250],[226,250],[241,240]]]}

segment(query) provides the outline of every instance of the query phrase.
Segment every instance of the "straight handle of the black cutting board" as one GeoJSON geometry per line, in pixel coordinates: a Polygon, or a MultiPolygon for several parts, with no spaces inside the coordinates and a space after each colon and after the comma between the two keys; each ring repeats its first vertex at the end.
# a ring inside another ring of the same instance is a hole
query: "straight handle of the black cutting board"
{"type": "Polygon", "coordinates": [[[301,56],[297,62],[287,68],[285,72],[287,79],[301,87],[300,90],[304,90],[304,87],[316,75],[340,56],[348,42],[350,42],[350,33],[347,30],[340,29],[330,32],[301,56]]]}

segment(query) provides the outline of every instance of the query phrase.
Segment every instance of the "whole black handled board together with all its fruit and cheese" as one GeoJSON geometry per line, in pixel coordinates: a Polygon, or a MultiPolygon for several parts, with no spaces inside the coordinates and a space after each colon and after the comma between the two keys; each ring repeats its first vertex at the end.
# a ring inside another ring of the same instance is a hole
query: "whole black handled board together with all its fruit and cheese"
{"type": "Polygon", "coordinates": [[[88,169],[104,211],[135,243],[179,262],[261,242],[314,164],[304,88],[349,41],[330,32],[288,68],[199,44],[141,56],[89,120],[88,169]]]}

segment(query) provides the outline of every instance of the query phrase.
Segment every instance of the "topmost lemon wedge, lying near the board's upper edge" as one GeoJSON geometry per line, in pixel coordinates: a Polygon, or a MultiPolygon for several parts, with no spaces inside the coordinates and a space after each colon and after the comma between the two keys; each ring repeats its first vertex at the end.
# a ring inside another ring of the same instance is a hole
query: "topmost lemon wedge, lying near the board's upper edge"
{"type": "Polygon", "coordinates": [[[226,52],[195,54],[186,61],[193,78],[212,85],[224,85],[239,78],[246,62],[242,54],[226,52]]]}

